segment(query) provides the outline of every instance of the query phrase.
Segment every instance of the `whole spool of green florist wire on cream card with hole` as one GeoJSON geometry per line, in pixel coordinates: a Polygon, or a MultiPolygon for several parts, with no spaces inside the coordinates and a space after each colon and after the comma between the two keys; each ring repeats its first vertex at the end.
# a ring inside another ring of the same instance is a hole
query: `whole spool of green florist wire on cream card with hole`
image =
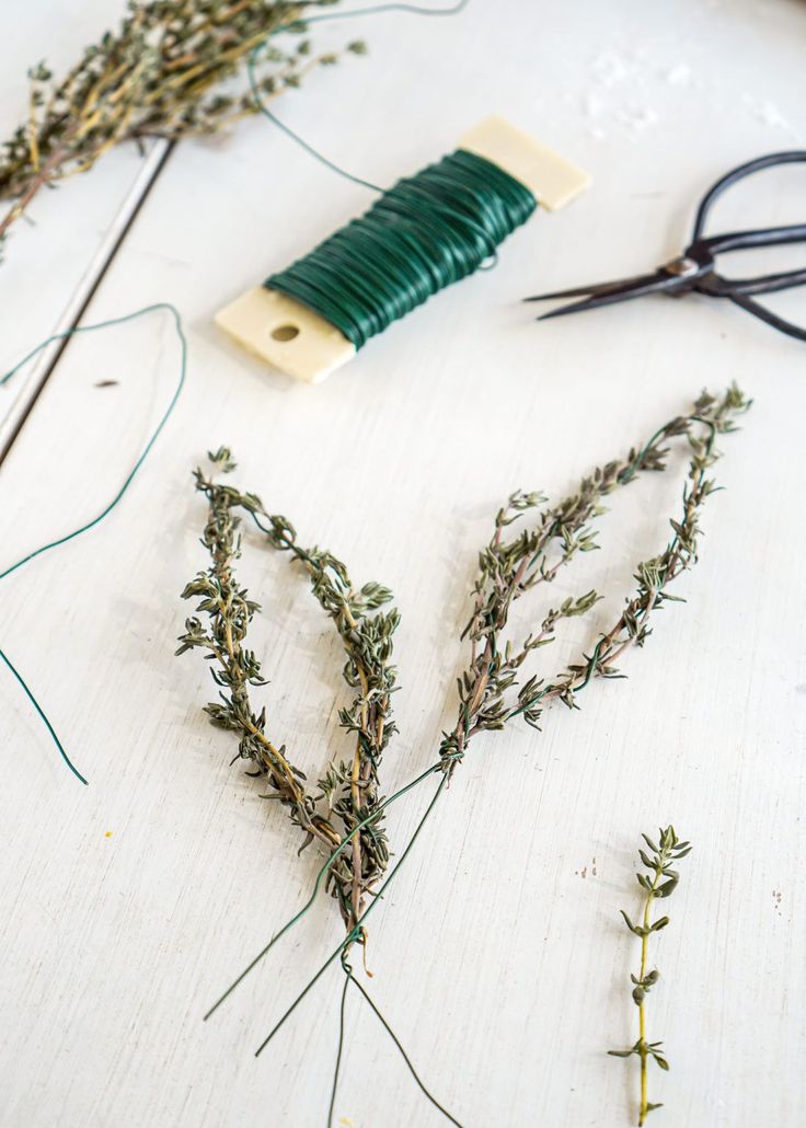
{"type": "Polygon", "coordinates": [[[318,384],[371,337],[482,267],[539,204],[555,211],[588,183],[575,165],[488,117],[455,152],[399,180],[215,320],[249,352],[318,384]]]}

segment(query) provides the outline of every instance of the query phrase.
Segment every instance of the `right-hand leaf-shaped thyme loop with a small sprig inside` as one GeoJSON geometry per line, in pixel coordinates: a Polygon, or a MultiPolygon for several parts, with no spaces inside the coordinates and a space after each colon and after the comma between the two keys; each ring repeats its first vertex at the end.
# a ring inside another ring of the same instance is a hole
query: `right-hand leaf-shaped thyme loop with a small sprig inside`
{"type": "Polygon", "coordinates": [[[690,414],[671,420],[644,447],[631,450],[626,460],[596,469],[583,478],[575,494],[557,506],[544,509],[534,529],[510,538],[505,532],[524,512],[544,501],[540,494],[513,494],[498,511],[493,539],[479,556],[473,610],[463,634],[470,640],[471,654],[459,679],[459,715],[454,728],[443,734],[440,749],[448,773],[457,768],[476,733],[503,729],[521,715],[539,728],[541,713],[553,698],[575,708],[575,695],[593,677],[619,676],[613,663],[632,644],[644,644],[649,634],[650,613],[675,598],[667,594],[666,585],[697,559],[700,509],[716,488],[707,476],[719,457],[715,438],[734,430],[734,417],[749,407],[750,400],[735,386],[719,400],[703,393],[690,414]],[[637,594],[628,600],[614,626],[600,637],[590,656],[584,654],[581,662],[569,666],[555,681],[547,684],[532,677],[519,689],[519,673],[529,654],[553,640],[561,619],[590,611],[599,596],[588,591],[577,599],[565,600],[557,609],[549,610],[539,629],[520,646],[503,637],[512,603],[537,584],[552,581],[578,552],[596,548],[591,522],[604,512],[602,500],[643,470],[665,469],[668,449],[664,443],[679,435],[688,437],[693,456],[682,517],[670,522],[674,537],[659,556],[638,565],[637,594]]]}

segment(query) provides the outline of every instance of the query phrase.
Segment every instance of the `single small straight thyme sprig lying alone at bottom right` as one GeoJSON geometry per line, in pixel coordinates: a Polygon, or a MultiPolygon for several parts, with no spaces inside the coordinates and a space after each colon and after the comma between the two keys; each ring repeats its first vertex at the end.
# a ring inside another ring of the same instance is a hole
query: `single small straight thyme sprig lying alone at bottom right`
{"type": "Polygon", "coordinates": [[[668,924],[667,916],[662,916],[658,917],[657,920],[652,920],[652,907],[656,900],[665,899],[672,896],[674,890],[677,888],[677,882],[680,881],[680,874],[672,867],[672,863],[679,862],[680,858],[685,857],[685,855],[691,852],[690,844],[683,843],[677,838],[674,827],[666,827],[665,829],[661,829],[658,832],[661,836],[658,839],[658,846],[656,846],[652,838],[647,835],[641,835],[641,838],[653,852],[652,857],[649,857],[646,851],[638,851],[640,860],[648,871],[648,874],[636,874],[638,884],[646,893],[646,897],[644,898],[641,923],[634,924],[625,910],[621,909],[621,916],[625,918],[627,927],[635,936],[639,936],[641,942],[640,971],[637,977],[632,975],[630,976],[634,984],[632,1002],[638,1007],[638,1041],[628,1050],[608,1051],[612,1055],[612,1057],[629,1058],[635,1054],[638,1058],[640,1058],[640,1104],[638,1112],[639,1128],[646,1122],[647,1114],[652,1112],[653,1109],[661,1108],[659,1103],[653,1104],[647,1098],[647,1061],[649,1058],[653,1058],[653,1060],[656,1061],[662,1069],[668,1069],[668,1061],[661,1050],[663,1043],[648,1042],[646,1040],[646,1014],[644,1004],[650,989],[661,977],[657,968],[654,968],[652,971],[647,970],[648,941],[653,933],[661,932],[661,929],[665,928],[668,924]]]}

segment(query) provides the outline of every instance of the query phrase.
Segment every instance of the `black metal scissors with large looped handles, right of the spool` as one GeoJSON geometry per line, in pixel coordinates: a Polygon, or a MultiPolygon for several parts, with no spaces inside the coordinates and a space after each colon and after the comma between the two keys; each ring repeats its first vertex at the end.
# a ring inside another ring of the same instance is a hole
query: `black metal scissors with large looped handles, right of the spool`
{"type": "Polygon", "coordinates": [[[549,314],[543,314],[538,320],[550,317],[564,317],[566,314],[576,314],[584,309],[597,309],[600,306],[611,306],[617,301],[627,301],[629,298],[640,298],[645,293],[670,293],[684,294],[697,291],[708,294],[709,298],[727,298],[735,302],[749,314],[767,321],[774,329],[797,337],[798,341],[806,341],[806,328],[800,328],[791,321],[779,317],[767,309],[760,302],[754,301],[753,294],[776,293],[780,290],[789,290],[797,285],[806,285],[806,268],[797,271],[786,271],[778,274],[765,274],[760,277],[727,279],[717,274],[715,257],[726,250],[745,250],[749,247],[774,247],[789,243],[806,243],[806,223],[796,223],[790,227],[769,227],[756,231],[732,231],[728,235],[703,236],[702,229],[706,226],[708,213],[714,202],[737,180],[759,173],[763,168],[772,168],[776,165],[791,165],[797,161],[806,161],[806,150],[795,149],[789,152],[773,152],[769,157],[759,157],[750,160],[746,165],[739,165],[732,173],[723,176],[720,180],[707,193],[694,220],[694,230],[691,243],[682,255],[673,258],[671,263],[659,266],[652,274],[637,274],[634,277],[621,279],[617,282],[603,282],[599,285],[577,287],[574,290],[558,290],[555,293],[541,293],[534,298],[525,298],[525,301],[546,301],[550,298],[578,298],[585,294],[582,301],[570,302],[561,306],[549,314]]]}

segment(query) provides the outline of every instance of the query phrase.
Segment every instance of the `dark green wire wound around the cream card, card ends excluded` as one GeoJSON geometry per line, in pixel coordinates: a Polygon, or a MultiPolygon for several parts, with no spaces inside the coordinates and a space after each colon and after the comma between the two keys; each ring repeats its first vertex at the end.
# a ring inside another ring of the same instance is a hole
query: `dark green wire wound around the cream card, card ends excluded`
{"type": "Polygon", "coordinates": [[[399,180],[264,285],[319,314],[356,349],[475,273],[529,219],[525,185],[464,149],[399,180]]]}

